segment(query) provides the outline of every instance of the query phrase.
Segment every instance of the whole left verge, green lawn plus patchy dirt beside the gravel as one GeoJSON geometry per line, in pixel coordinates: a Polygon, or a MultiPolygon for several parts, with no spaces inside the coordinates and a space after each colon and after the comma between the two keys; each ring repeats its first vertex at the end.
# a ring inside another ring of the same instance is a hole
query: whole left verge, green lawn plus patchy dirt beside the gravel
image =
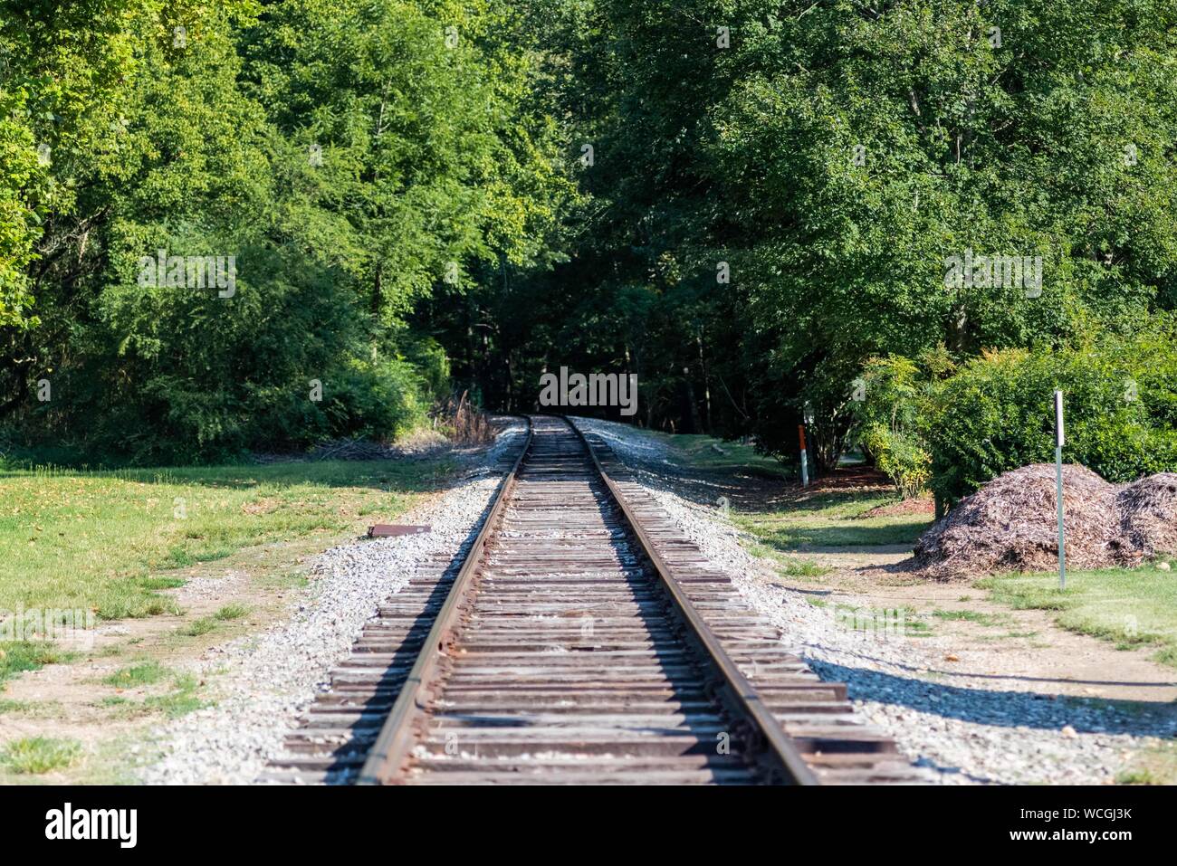
{"type": "Polygon", "coordinates": [[[288,593],[307,582],[306,557],[395,521],[453,469],[451,458],[109,472],[0,466],[0,638],[13,621],[5,612],[20,608],[124,620],[85,650],[0,639],[0,720],[18,738],[0,742],[0,784],[134,781],[149,751],[128,750],[148,726],[215,702],[221,672],[186,673],[205,647],[282,615],[288,593]],[[167,589],[210,579],[189,609],[175,609],[167,589]],[[184,619],[149,619],[162,613],[184,619]],[[62,678],[15,681],[74,660],[62,678]],[[52,721],[52,739],[27,735],[36,719],[52,721]]]}

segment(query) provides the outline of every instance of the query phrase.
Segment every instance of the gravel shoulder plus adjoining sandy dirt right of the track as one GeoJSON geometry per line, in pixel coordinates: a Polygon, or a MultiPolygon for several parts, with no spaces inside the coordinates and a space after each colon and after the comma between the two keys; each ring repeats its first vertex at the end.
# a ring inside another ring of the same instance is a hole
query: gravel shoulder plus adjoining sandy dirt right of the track
{"type": "Polygon", "coordinates": [[[940,781],[1109,784],[1171,754],[1171,668],[1060,629],[1042,612],[989,605],[967,584],[904,584],[878,567],[905,548],[827,551],[817,558],[831,574],[783,578],[745,549],[671,448],[626,425],[576,421],[610,444],[792,651],[824,679],[845,681],[866,718],[940,781]],[[927,637],[909,637],[903,618],[930,606],[963,618],[936,618],[927,637]]]}

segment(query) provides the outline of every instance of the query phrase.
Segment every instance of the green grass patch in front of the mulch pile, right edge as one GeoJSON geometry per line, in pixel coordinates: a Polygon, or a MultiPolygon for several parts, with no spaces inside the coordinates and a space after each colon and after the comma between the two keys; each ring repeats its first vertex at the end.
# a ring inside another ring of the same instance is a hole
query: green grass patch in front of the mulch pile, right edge
{"type": "Polygon", "coordinates": [[[1008,574],[977,582],[993,601],[1015,609],[1048,611],[1072,632],[1122,648],[1152,646],[1153,658],[1177,667],[1177,578],[1152,566],[1057,574],[1008,574]]]}

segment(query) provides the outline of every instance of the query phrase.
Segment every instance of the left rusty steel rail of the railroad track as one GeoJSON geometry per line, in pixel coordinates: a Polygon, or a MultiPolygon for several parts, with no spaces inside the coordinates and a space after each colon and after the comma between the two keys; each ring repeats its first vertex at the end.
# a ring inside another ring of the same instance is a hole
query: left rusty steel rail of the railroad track
{"type": "Polygon", "coordinates": [[[524,458],[531,449],[534,431],[531,418],[526,420],[527,438],[523,449],[494,492],[494,504],[491,506],[491,512],[486,515],[483,528],[478,532],[474,544],[471,545],[470,552],[466,554],[466,560],[454,577],[450,592],[446,593],[445,602],[438,611],[437,619],[433,620],[433,626],[421,644],[420,654],[413,662],[392,710],[388,711],[388,718],[380,726],[380,733],[372,744],[372,750],[355,780],[357,785],[387,785],[400,780],[400,774],[408,759],[408,751],[413,745],[414,725],[426,713],[428,686],[437,673],[438,665],[445,658],[446,641],[458,625],[463,604],[473,585],[473,574],[483,559],[483,551],[496,521],[503,513],[511,489],[514,488],[519,466],[523,465],[524,458]]]}

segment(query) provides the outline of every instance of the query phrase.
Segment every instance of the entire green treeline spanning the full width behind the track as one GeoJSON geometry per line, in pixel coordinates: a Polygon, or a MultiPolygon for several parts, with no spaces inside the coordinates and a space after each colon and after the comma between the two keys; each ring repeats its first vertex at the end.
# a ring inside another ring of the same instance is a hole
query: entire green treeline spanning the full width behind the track
{"type": "Polygon", "coordinates": [[[567,366],[942,504],[1050,457],[1055,387],[1070,459],[1177,468],[1169,0],[5,9],[13,439],[393,435],[567,366]],[[231,297],[140,285],[160,249],[231,297]]]}

